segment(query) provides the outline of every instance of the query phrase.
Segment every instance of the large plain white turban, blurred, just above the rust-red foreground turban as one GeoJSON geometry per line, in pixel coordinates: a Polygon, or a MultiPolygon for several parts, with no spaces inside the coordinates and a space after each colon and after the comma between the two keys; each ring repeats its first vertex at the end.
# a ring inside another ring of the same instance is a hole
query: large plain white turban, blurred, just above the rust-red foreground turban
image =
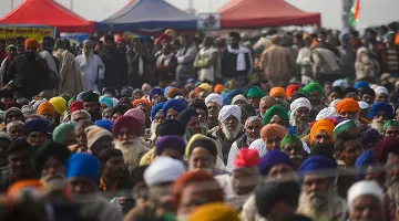
{"type": "Polygon", "coordinates": [[[171,157],[156,157],[144,171],[144,181],[149,187],[175,181],[186,171],[181,160],[171,157]]]}

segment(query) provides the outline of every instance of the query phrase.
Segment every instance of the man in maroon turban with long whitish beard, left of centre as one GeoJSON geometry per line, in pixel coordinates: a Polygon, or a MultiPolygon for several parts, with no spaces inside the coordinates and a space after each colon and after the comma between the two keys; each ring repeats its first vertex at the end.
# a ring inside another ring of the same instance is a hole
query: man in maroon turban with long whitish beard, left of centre
{"type": "Polygon", "coordinates": [[[129,169],[139,166],[141,158],[149,151],[141,136],[142,124],[132,116],[119,117],[112,127],[115,148],[121,150],[129,169]]]}

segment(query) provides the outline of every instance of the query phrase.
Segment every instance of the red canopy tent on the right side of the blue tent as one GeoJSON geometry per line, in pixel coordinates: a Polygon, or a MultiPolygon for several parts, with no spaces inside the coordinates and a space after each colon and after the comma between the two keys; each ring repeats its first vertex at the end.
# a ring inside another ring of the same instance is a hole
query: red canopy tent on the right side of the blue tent
{"type": "Polygon", "coordinates": [[[320,25],[320,13],[307,13],[284,0],[231,0],[218,11],[223,29],[320,25]]]}

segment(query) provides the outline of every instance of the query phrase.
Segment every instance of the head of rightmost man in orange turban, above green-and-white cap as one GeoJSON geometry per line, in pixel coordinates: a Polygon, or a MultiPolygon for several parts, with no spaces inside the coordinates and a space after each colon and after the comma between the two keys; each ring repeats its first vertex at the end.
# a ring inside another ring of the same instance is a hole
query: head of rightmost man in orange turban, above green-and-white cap
{"type": "Polygon", "coordinates": [[[352,119],[356,123],[359,122],[360,106],[359,103],[352,98],[344,98],[336,105],[336,113],[338,116],[345,119],[352,119]]]}

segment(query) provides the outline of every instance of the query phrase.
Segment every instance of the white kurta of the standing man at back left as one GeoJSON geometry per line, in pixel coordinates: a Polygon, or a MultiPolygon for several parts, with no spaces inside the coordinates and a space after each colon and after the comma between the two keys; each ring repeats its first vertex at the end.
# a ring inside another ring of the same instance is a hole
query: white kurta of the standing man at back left
{"type": "Polygon", "coordinates": [[[105,73],[105,66],[100,56],[93,55],[93,57],[86,63],[83,55],[76,56],[76,62],[82,72],[83,91],[99,91],[95,81],[98,78],[103,80],[105,73]]]}

